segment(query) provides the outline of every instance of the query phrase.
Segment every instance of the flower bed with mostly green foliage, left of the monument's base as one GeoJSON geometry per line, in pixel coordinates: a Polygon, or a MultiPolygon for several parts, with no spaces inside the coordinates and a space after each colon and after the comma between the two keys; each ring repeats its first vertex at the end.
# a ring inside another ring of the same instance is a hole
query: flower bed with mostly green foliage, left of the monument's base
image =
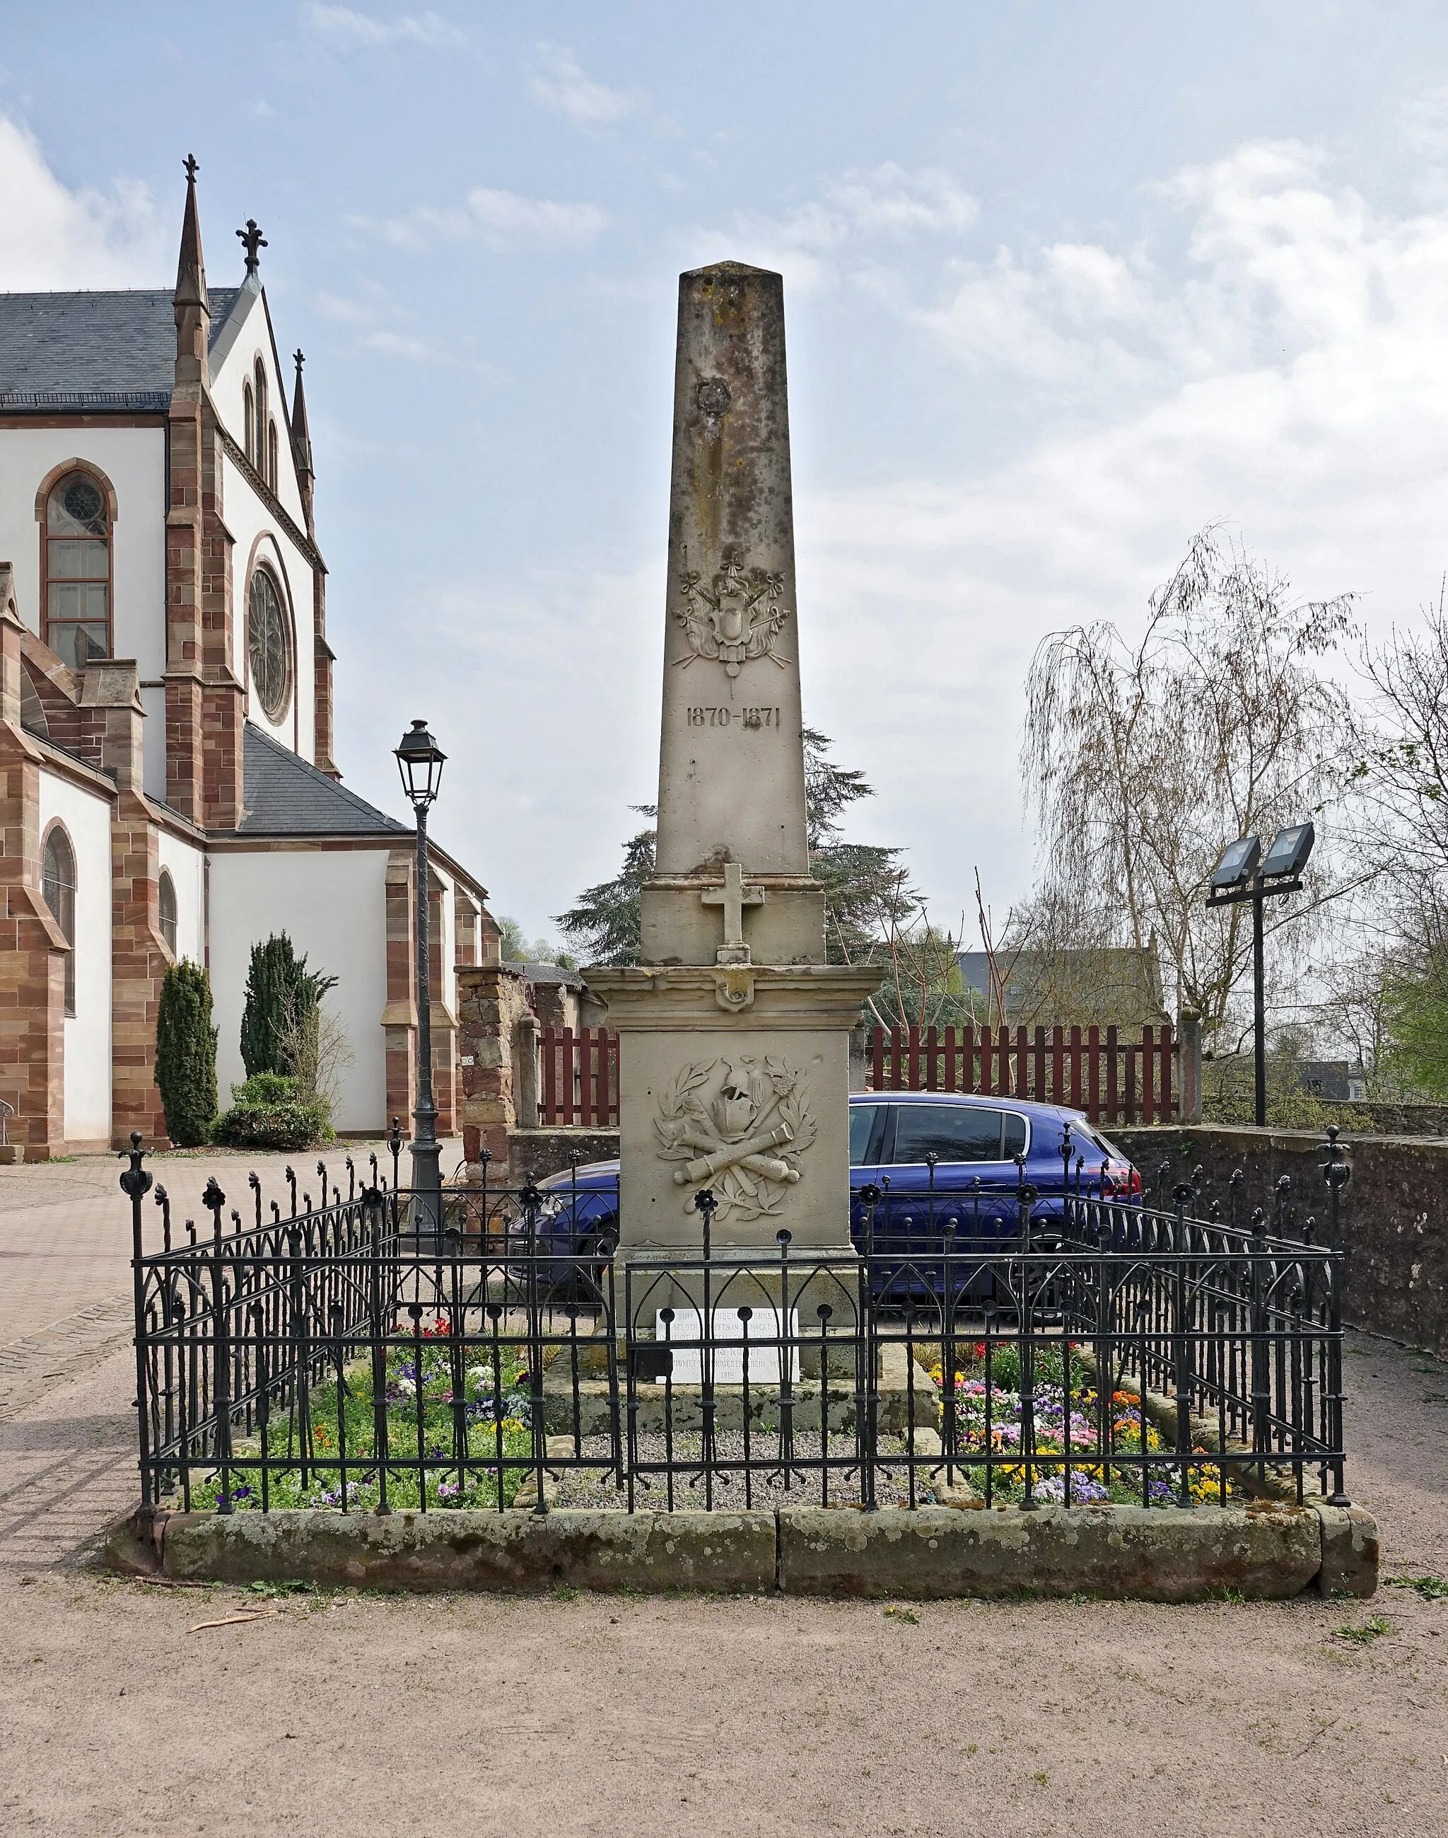
{"type": "MultiPolygon", "coordinates": [[[[413,1323],[402,1329],[412,1333],[413,1323]]],[[[533,1454],[527,1367],[513,1347],[474,1349],[474,1364],[458,1373],[434,1331],[419,1329],[412,1345],[386,1356],[388,1503],[404,1509],[496,1507],[498,1463],[527,1461],[533,1454]],[[406,1467],[397,1463],[404,1461],[406,1467]]],[[[261,1437],[235,1443],[230,1469],[232,1505],[263,1507],[261,1437]]],[[[312,1386],[303,1412],[294,1404],[266,1426],[268,1509],[336,1507],[366,1513],[379,1505],[377,1413],[369,1362],[312,1386]],[[277,1469],[277,1463],[283,1463],[277,1469]]],[[[503,1505],[529,1476],[527,1467],[503,1467],[503,1505]]],[[[191,1485],[193,1511],[222,1502],[221,1472],[208,1470],[191,1485]]]]}

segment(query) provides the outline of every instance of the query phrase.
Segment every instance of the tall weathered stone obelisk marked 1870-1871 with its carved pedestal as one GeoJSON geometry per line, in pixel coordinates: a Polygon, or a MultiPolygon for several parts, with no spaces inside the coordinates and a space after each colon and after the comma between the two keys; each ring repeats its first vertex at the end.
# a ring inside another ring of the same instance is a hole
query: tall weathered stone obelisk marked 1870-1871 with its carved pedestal
{"type": "Polygon", "coordinates": [[[590,969],[619,1042],[621,1248],[849,1252],[849,1031],[810,877],[785,289],[680,276],[658,858],[641,963],[590,969]]]}

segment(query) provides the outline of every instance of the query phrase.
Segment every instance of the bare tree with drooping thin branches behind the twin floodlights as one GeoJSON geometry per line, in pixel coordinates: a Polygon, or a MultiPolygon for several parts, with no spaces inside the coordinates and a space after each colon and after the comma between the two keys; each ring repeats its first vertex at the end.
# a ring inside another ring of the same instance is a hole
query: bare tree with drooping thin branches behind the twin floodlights
{"type": "MultiPolygon", "coordinates": [[[[1250,908],[1207,912],[1207,877],[1235,836],[1270,836],[1334,792],[1351,720],[1319,664],[1351,630],[1351,603],[1295,599],[1207,528],[1152,594],[1137,643],[1101,621],[1053,632],[1031,662],[1022,781],[1038,897],[1069,895],[1092,943],[1154,939],[1178,1009],[1207,1037],[1251,954],[1250,908]]],[[[1323,857],[1308,904],[1329,893],[1323,857]]],[[[1275,928],[1303,910],[1283,904],[1275,928]]]]}

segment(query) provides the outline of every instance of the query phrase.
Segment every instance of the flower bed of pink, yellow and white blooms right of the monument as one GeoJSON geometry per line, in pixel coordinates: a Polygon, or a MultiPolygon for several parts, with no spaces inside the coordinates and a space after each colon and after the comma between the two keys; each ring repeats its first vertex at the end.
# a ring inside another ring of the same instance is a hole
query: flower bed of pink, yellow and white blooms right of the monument
{"type": "MultiPolygon", "coordinates": [[[[1060,1351],[1035,1351],[1029,1424],[1016,1345],[990,1349],[989,1384],[985,1342],[957,1355],[952,1461],[978,1494],[1000,1503],[1029,1498],[1053,1505],[1204,1505],[1231,1498],[1220,1465],[1204,1459],[1209,1450],[1194,1448],[1196,1459],[1183,1463],[1143,1417],[1139,1397],[1114,1391],[1103,1399],[1075,1353],[1064,1369],[1060,1351]],[[979,1461],[987,1450],[1001,1459],[979,1461]]],[[[945,1388],[941,1364],[930,1377],[945,1388]]]]}

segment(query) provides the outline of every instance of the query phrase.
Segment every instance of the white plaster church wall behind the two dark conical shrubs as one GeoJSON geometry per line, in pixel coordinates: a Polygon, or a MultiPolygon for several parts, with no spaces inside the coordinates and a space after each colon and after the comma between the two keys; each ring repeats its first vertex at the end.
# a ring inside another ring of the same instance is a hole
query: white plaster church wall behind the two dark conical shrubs
{"type": "Polygon", "coordinates": [[[353,1062],[333,1114],[340,1130],[380,1130],[388,1110],[382,1009],[388,1002],[386,849],[263,849],[211,857],[211,1000],[217,1086],[241,1064],[241,1009],[252,945],[287,932],[309,969],[340,978],[327,1009],[347,1029],[353,1062]]]}

